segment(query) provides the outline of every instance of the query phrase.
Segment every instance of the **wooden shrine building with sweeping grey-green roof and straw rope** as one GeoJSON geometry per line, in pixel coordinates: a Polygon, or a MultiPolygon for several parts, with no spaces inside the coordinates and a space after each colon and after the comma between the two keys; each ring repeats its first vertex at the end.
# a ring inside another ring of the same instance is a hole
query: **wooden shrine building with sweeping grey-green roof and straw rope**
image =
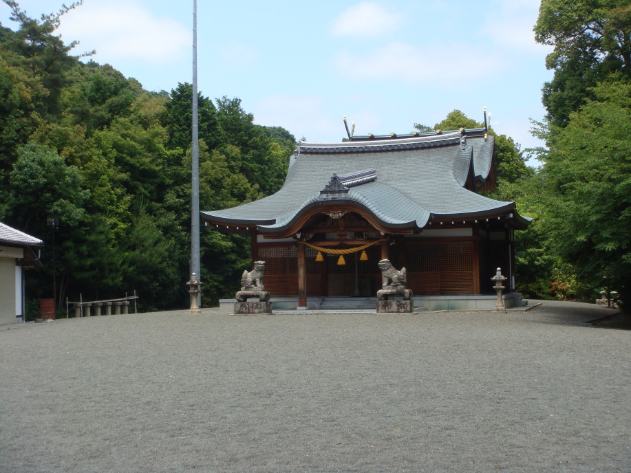
{"type": "Polygon", "coordinates": [[[407,268],[407,287],[428,308],[494,304],[500,267],[511,307],[521,302],[513,235],[530,219],[480,194],[497,186],[493,156],[486,128],[300,142],[274,195],[201,215],[206,226],[250,235],[276,307],[372,298],[381,259],[407,268]]]}

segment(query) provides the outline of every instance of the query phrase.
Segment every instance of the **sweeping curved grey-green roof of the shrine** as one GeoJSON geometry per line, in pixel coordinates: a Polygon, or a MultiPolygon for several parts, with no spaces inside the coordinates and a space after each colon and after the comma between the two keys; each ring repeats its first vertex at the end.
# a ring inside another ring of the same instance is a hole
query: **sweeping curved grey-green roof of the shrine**
{"type": "Polygon", "coordinates": [[[430,218],[475,218],[513,210],[513,202],[489,199],[463,187],[472,165],[474,176],[489,175],[492,139],[467,137],[462,149],[458,132],[438,135],[449,141],[442,144],[436,143],[436,137],[301,143],[299,153],[290,157],[284,186],[274,195],[226,210],[202,212],[202,217],[226,225],[258,225],[263,232],[278,230],[308,208],[330,203],[320,190],[334,173],[340,176],[365,169],[374,169],[376,179],[350,188],[334,202],[363,206],[387,226],[423,228],[430,218]]]}

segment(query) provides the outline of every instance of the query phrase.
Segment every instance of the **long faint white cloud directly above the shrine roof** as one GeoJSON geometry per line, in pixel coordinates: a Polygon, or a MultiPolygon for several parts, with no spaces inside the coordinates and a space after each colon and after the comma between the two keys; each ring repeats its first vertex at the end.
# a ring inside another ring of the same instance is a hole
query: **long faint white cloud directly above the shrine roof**
{"type": "Polygon", "coordinates": [[[471,83],[500,68],[497,59],[466,46],[419,48],[395,41],[356,56],[343,51],[334,58],[338,71],[350,80],[394,80],[418,85],[453,86],[471,83]]]}

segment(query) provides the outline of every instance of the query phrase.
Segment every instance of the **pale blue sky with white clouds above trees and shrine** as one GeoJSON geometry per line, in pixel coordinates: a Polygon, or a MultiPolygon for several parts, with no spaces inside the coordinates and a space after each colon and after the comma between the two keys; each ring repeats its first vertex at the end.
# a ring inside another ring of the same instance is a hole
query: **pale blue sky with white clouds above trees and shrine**
{"type": "MultiPolygon", "coordinates": [[[[31,17],[62,1],[22,0],[31,17]]],[[[68,2],[67,2],[68,3],[68,2]]],[[[255,122],[297,139],[340,141],[342,115],[358,135],[408,133],[459,109],[522,144],[539,146],[550,80],[533,25],[538,0],[197,1],[199,90],[239,97],[255,122]]],[[[0,4],[0,21],[10,9],[0,4]]],[[[85,0],[63,18],[76,54],[96,50],[145,89],[191,82],[193,0],[85,0]]],[[[534,163],[532,163],[534,164],[534,163]]]]}

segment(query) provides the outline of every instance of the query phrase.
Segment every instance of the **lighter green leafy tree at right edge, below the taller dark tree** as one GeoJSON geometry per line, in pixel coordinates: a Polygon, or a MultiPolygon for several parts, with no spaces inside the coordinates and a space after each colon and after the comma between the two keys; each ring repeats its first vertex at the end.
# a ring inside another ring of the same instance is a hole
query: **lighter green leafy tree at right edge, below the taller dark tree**
{"type": "Polygon", "coordinates": [[[613,276],[631,290],[631,83],[622,74],[592,89],[564,129],[543,125],[542,205],[550,249],[584,281],[613,276]]]}

